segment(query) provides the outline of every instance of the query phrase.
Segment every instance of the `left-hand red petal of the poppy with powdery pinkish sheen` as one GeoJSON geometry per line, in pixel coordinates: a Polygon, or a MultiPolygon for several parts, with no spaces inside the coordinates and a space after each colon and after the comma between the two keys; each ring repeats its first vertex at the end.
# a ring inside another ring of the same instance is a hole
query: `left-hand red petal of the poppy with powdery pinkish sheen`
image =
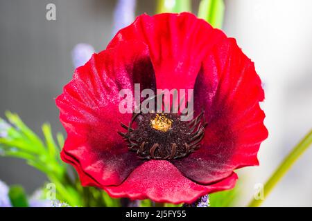
{"type": "Polygon", "coordinates": [[[101,185],[120,184],[142,163],[117,134],[121,122],[132,117],[119,112],[119,90],[129,88],[133,93],[135,83],[142,90],[155,89],[155,75],[146,45],[129,41],[94,54],[56,99],[68,135],[62,158],[82,179],[87,174],[101,185]]]}

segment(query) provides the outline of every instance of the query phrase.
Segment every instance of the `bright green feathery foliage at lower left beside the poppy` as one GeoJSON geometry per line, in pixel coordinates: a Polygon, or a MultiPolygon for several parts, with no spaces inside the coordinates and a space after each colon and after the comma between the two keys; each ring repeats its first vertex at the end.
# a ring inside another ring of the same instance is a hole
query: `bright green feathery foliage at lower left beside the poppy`
{"type": "MultiPolygon", "coordinates": [[[[119,199],[110,198],[105,191],[81,186],[76,173],[74,177],[71,176],[71,170],[60,159],[59,153],[64,145],[61,133],[56,135],[55,142],[51,126],[43,124],[42,141],[17,114],[7,112],[6,115],[12,125],[0,118],[0,156],[24,159],[27,164],[45,173],[55,185],[56,199],[60,202],[67,202],[71,206],[120,206],[119,199]]],[[[20,188],[12,188],[12,200],[16,199],[17,206],[26,206],[27,198],[22,198],[21,193],[23,191],[20,188]]]]}

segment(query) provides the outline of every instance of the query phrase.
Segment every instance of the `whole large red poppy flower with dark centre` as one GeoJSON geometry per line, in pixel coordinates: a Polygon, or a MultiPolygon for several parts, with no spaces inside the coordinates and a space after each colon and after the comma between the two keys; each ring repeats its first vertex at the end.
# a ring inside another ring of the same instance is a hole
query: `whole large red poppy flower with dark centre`
{"type": "Polygon", "coordinates": [[[67,131],[61,157],[84,186],[112,197],[191,203],[231,189],[235,169],[259,164],[268,136],[263,98],[254,64],[235,39],[186,12],[141,15],[77,68],[56,99],[67,131]],[[175,124],[176,116],[165,116],[168,132],[150,123],[155,115],[120,113],[119,91],[134,93],[136,83],[141,90],[193,88],[197,117],[175,124]]]}

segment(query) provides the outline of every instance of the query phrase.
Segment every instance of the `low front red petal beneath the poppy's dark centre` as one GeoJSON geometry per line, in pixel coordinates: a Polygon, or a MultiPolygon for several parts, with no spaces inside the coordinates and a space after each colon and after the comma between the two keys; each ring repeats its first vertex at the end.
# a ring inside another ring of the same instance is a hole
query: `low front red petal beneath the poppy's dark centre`
{"type": "Polygon", "coordinates": [[[220,182],[204,186],[184,177],[170,162],[150,160],[135,169],[121,185],[105,186],[105,190],[116,198],[149,198],[155,202],[179,204],[192,203],[207,193],[232,189],[236,180],[236,173],[232,173],[220,182]]]}

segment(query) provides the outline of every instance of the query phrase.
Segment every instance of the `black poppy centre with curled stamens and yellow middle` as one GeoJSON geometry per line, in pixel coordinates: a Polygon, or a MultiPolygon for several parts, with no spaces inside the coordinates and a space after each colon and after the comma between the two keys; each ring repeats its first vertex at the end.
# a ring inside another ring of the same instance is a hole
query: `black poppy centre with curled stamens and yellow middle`
{"type": "Polygon", "coordinates": [[[186,157],[200,148],[205,135],[204,112],[191,121],[182,121],[175,113],[134,114],[127,130],[119,134],[130,151],[141,159],[172,160],[186,157]]]}

